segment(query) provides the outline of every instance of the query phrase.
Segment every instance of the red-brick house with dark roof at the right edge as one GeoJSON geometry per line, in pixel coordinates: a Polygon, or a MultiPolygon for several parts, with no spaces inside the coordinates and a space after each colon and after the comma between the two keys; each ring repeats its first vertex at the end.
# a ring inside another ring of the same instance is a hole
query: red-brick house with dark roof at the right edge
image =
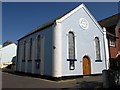
{"type": "Polygon", "coordinates": [[[120,13],[99,21],[99,24],[106,28],[109,57],[120,57],[120,13]]]}

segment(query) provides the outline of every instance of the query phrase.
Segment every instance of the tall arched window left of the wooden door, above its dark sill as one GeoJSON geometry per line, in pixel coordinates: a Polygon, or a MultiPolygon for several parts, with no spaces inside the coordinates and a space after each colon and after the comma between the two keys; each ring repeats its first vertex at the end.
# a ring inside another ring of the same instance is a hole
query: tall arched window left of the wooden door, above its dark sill
{"type": "Polygon", "coordinates": [[[73,32],[69,32],[68,34],[68,49],[69,59],[75,59],[75,38],[73,32]]]}

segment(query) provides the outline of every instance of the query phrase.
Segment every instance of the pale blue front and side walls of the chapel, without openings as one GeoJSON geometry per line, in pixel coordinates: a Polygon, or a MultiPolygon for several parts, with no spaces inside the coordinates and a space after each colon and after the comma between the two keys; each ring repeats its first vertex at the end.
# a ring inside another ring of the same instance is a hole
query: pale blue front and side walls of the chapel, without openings
{"type": "Polygon", "coordinates": [[[85,55],[91,61],[91,74],[101,74],[102,70],[106,68],[105,56],[105,43],[102,28],[98,25],[97,21],[86,10],[81,8],[82,4],[72,14],[56,20],[54,25],[39,30],[25,38],[19,40],[19,51],[17,60],[17,70],[29,72],[40,75],[47,75],[52,77],[83,75],[82,59],[85,55]],[[89,22],[89,28],[83,30],[79,25],[79,19],[85,18],[89,22]],[[75,52],[77,61],[75,61],[75,70],[69,70],[68,59],[68,32],[73,31],[75,34],[75,52]],[[36,40],[37,36],[42,36],[42,52],[41,52],[41,66],[39,70],[35,68],[36,58],[36,40]],[[95,37],[99,37],[101,48],[102,62],[95,62],[95,37]],[[33,39],[32,46],[32,64],[29,64],[29,40],[33,39]],[[25,63],[23,59],[23,43],[27,41],[25,63]],[[32,68],[32,71],[29,69],[32,68]]]}

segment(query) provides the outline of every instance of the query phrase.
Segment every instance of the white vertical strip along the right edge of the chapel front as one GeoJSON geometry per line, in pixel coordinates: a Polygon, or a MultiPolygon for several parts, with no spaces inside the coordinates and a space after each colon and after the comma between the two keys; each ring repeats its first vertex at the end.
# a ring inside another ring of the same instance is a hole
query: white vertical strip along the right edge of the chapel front
{"type": "Polygon", "coordinates": [[[108,44],[108,40],[107,40],[107,34],[106,34],[106,28],[103,27],[103,34],[104,34],[104,48],[105,48],[105,66],[106,69],[109,69],[109,44],[108,44]]]}

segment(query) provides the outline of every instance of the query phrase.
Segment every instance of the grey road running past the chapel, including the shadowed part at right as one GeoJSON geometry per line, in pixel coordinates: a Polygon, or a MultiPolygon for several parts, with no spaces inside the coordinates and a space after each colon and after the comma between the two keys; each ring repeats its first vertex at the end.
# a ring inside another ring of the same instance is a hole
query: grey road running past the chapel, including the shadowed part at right
{"type": "Polygon", "coordinates": [[[2,88],[99,88],[101,76],[51,81],[37,77],[2,72],[2,88]]]}

